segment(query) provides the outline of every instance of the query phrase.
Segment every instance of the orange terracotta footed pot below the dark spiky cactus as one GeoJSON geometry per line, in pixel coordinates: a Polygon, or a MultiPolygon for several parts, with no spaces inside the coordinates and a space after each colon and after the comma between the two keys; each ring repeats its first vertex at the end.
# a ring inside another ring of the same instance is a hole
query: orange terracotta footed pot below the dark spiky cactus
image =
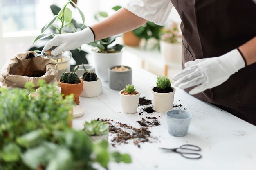
{"type": "Polygon", "coordinates": [[[68,84],[68,83],[61,83],[61,81],[58,81],[58,84],[61,87],[61,94],[64,94],[63,98],[65,96],[74,94],[74,99],[77,105],[79,105],[79,96],[83,92],[83,80],[79,78],[80,83],[79,84],[68,84]]]}

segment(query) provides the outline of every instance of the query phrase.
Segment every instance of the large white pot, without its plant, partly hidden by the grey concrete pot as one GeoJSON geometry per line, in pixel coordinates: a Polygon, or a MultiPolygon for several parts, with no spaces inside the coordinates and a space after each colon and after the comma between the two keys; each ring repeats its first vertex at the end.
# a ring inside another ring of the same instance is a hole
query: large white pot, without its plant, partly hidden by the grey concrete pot
{"type": "Polygon", "coordinates": [[[108,81],[108,68],[115,65],[121,65],[122,63],[122,52],[92,52],[92,55],[94,58],[96,74],[102,81],[108,81]]]}

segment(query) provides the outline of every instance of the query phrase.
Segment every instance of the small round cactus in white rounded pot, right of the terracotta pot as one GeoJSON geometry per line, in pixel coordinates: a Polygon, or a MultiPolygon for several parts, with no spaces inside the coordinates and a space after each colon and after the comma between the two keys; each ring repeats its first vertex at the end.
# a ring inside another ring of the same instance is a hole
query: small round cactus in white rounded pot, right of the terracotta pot
{"type": "Polygon", "coordinates": [[[81,77],[83,79],[83,92],[81,97],[96,97],[102,93],[101,79],[92,71],[87,71],[85,66],[83,69],[85,73],[81,77]]]}

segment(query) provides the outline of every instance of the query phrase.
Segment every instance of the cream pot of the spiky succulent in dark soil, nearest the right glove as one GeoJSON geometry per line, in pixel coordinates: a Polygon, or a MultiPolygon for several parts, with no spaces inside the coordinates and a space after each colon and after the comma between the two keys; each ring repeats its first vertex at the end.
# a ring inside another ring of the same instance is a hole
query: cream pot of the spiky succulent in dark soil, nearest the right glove
{"type": "Polygon", "coordinates": [[[157,93],[152,90],[154,109],[158,113],[165,113],[168,110],[173,109],[173,98],[175,94],[175,88],[171,87],[173,92],[170,93],[157,93]]]}

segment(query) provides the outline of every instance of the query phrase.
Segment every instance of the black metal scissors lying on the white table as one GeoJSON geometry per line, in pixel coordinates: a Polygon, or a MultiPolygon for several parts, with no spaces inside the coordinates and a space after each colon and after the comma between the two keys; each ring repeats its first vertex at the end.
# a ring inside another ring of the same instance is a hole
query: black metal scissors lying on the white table
{"type": "Polygon", "coordinates": [[[179,148],[160,148],[164,150],[170,150],[175,153],[179,153],[182,157],[185,157],[187,159],[200,159],[202,155],[200,153],[193,153],[188,151],[201,151],[201,148],[195,145],[185,144],[180,146],[179,148]]]}

